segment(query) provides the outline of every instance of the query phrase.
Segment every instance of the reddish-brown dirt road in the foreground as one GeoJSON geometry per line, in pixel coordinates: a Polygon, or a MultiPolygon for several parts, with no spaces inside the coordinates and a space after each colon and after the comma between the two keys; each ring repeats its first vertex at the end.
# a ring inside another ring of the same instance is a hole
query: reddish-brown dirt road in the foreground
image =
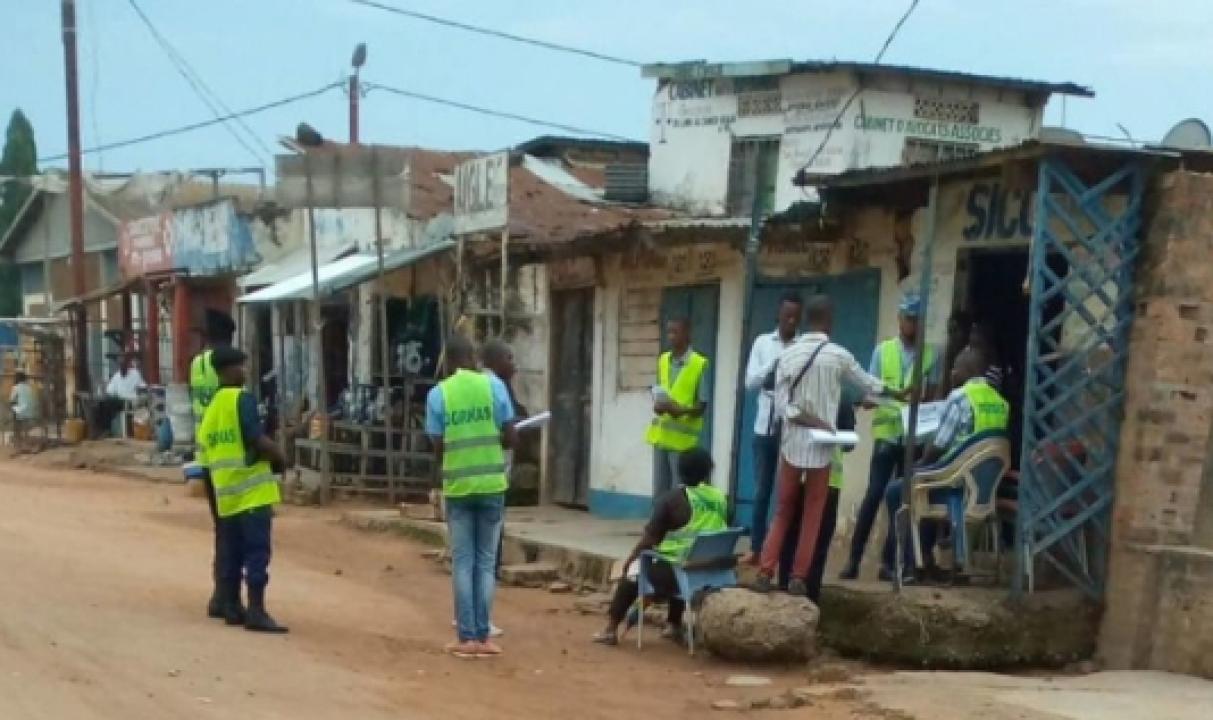
{"type": "MultiPolygon", "coordinates": [[[[505,658],[446,657],[448,576],[420,545],[335,518],[283,509],[269,604],[292,633],[260,636],[203,616],[203,501],[178,486],[0,462],[0,716],[676,718],[744,698],[723,681],[756,672],[660,642],[592,646],[599,618],[577,615],[570,596],[517,589],[499,594],[505,658]]],[[[803,669],[761,672],[775,680],[767,695],[808,682],[803,669]]],[[[867,716],[860,708],[839,698],[769,713],[867,716]]]]}

